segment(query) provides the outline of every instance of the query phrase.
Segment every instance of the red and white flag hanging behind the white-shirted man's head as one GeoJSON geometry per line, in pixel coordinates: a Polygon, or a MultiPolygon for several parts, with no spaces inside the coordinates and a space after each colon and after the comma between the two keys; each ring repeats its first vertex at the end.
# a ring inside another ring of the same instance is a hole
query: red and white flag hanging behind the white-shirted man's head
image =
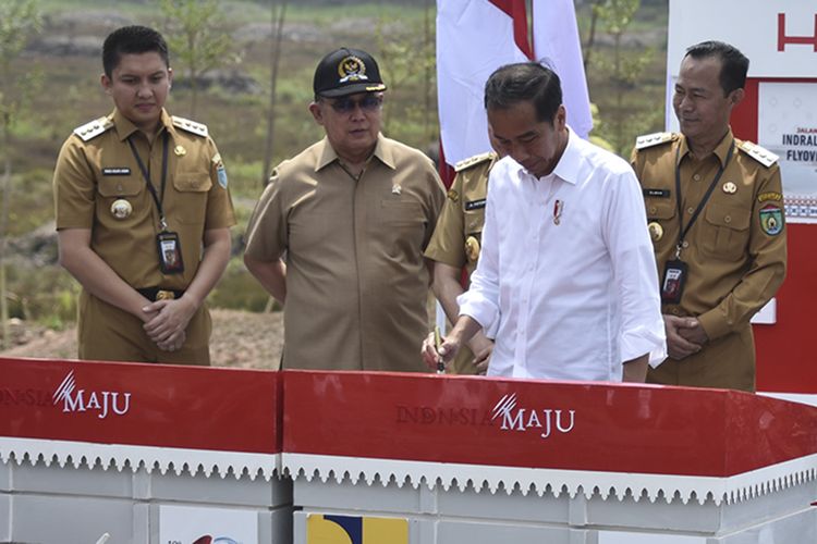
{"type": "Polygon", "coordinates": [[[573,2],[533,4],[536,54],[525,0],[437,0],[438,108],[448,164],[490,150],[485,82],[512,62],[544,60],[562,79],[568,122],[582,137],[593,127],[573,2]]]}

